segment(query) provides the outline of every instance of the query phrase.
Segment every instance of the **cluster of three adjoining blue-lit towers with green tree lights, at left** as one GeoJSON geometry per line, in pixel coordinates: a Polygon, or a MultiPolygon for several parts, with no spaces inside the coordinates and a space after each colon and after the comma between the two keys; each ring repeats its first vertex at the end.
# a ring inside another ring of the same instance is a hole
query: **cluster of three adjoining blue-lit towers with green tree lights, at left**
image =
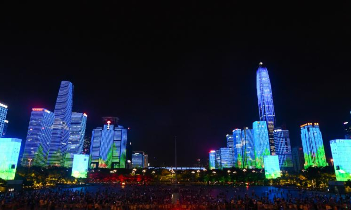
{"type": "Polygon", "coordinates": [[[72,108],[73,84],[62,81],[54,112],[32,109],[22,166],[72,167],[73,156],[83,152],[87,119],[72,108]]]}

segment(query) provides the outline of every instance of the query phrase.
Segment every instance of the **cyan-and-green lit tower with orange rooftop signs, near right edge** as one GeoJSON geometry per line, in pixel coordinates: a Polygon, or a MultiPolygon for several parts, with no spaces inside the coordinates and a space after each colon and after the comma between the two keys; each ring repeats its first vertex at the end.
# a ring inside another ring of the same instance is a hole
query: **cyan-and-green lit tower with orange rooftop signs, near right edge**
{"type": "Polygon", "coordinates": [[[306,123],[300,126],[302,148],[304,149],[305,168],[310,166],[324,167],[328,163],[325,159],[325,151],[322,132],[318,123],[306,123]]]}

